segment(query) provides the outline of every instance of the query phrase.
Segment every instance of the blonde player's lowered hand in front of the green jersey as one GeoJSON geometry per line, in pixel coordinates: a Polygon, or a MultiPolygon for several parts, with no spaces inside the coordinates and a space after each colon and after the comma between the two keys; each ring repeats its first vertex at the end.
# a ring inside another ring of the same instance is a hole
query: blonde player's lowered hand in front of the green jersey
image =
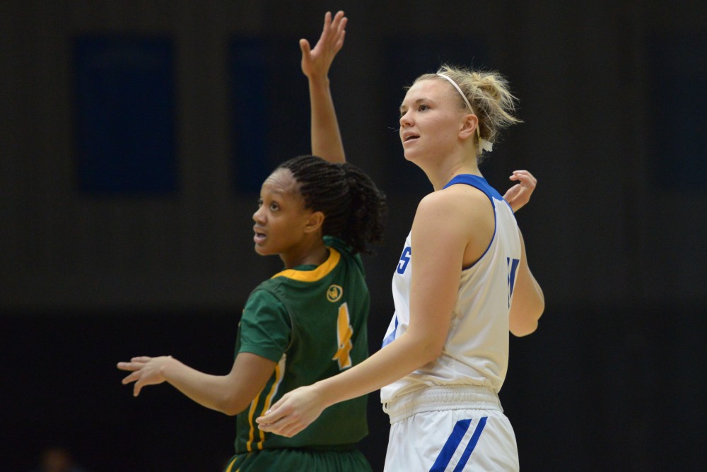
{"type": "Polygon", "coordinates": [[[319,418],[324,408],[316,387],[310,385],[284,394],[256,421],[261,431],[293,437],[319,418]]]}

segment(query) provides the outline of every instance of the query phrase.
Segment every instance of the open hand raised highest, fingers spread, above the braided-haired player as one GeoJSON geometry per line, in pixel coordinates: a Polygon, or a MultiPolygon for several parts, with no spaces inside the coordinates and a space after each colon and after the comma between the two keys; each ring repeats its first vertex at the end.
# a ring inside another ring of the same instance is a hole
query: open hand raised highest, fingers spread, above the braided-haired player
{"type": "Polygon", "coordinates": [[[325,77],[334,61],[337,52],[344,45],[346,36],[346,21],[343,11],[337,12],[332,20],[332,13],[327,11],[324,16],[324,29],[314,49],[310,49],[308,40],[300,40],[302,49],[302,71],[308,78],[325,77]]]}

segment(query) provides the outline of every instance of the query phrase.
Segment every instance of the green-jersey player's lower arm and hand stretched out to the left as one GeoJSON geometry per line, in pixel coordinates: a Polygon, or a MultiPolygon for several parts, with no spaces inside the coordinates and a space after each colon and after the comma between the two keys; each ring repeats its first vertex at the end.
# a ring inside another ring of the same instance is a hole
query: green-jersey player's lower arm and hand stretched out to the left
{"type": "Polygon", "coordinates": [[[226,415],[237,415],[265,386],[275,362],[256,354],[239,353],[226,375],[204,374],[170,355],[136,357],[130,362],[118,362],[117,367],[132,372],[122,383],[135,382],[134,396],[140,394],[142,387],[168,382],[206,408],[226,415]]]}

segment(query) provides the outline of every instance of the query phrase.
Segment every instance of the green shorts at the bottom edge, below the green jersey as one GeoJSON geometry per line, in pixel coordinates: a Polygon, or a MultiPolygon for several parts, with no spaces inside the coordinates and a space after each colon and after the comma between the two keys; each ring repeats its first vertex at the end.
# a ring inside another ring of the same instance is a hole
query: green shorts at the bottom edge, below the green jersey
{"type": "Polygon", "coordinates": [[[226,472],[372,472],[357,449],[315,451],[312,449],[263,449],[236,454],[226,472]]]}

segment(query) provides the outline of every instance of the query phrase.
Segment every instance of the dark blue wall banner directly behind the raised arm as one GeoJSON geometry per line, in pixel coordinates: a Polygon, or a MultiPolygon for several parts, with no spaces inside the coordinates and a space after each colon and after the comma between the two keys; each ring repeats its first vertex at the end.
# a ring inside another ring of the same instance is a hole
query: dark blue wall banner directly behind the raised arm
{"type": "Polygon", "coordinates": [[[280,163],[311,152],[307,78],[298,37],[235,36],[229,56],[233,183],[257,194],[280,163]]]}

